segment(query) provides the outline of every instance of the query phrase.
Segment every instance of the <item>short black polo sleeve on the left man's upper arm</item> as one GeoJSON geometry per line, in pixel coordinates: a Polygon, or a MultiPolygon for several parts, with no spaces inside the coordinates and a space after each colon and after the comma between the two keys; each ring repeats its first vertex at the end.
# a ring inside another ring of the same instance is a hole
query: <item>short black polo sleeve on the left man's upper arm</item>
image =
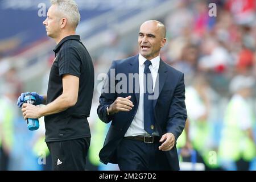
{"type": "Polygon", "coordinates": [[[59,74],[62,77],[65,74],[80,77],[81,58],[79,52],[74,46],[65,46],[60,52],[59,74]]]}

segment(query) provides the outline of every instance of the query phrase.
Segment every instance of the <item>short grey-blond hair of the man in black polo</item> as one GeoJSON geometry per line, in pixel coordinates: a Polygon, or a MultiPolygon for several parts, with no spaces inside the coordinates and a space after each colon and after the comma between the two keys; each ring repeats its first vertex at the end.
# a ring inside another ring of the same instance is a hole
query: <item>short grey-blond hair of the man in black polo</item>
{"type": "Polygon", "coordinates": [[[57,5],[57,9],[68,19],[73,27],[77,27],[80,22],[80,13],[77,3],[74,0],[50,0],[52,5],[57,5]]]}

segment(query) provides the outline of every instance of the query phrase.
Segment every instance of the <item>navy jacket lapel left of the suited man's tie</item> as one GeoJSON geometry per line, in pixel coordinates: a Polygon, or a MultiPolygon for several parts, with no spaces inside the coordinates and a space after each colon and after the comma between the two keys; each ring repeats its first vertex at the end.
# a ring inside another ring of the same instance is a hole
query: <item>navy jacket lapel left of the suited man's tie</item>
{"type": "MultiPolygon", "coordinates": [[[[129,73],[137,73],[139,75],[139,59],[138,59],[138,57],[139,57],[139,55],[135,56],[134,59],[131,60],[129,73]]],[[[135,79],[133,79],[133,93],[135,94],[137,103],[139,103],[139,80],[135,81],[135,79]]]]}

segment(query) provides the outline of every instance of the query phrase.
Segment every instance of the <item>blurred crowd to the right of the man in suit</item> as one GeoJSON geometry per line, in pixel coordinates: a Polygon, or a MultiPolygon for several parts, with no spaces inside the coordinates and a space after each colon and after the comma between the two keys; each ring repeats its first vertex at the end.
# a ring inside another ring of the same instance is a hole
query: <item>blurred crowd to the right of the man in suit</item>
{"type": "Polygon", "coordinates": [[[205,169],[255,170],[255,1],[215,3],[216,17],[207,1],[181,1],[165,19],[164,55],[187,86],[188,136],[178,145],[205,169]]]}

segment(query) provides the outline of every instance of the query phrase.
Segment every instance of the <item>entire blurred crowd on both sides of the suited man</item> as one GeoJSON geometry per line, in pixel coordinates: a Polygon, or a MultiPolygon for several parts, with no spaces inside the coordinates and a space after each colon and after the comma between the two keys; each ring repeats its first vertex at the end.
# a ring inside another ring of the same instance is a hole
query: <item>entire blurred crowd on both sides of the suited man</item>
{"type": "MultiPolygon", "coordinates": [[[[206,170],[256,170],[255,12],[254,0],[181,0],[159,19],[167,28],[167,44],[160,57],[185,76],[188,119],[177,140],[180,162],[191,162],[196,153],[192,162],[203,163],[206,170]],[[217,5],[216,16],[209,16],[210,2],[217,5]]],[[[108,39],[103,51],[91,55],[96,79],[108,71],[112,60],[138,53],[137,42],[125,43],[118,32],[110,32],[108,39]]],[[[0,78],[0,170],[50,169],[43,120],[40,131],[28,131],[15,105],[19,94],[28,91],[17,72],[9,69],[0,78]]],[[[48,72],[42,78],[42,92],[46,92],[47,77],[48,72]]],[[[88,119],[92,132],[88,170],[117,170],[98,158],[109,126],[96,112],[99,82],[88,119]]]]}

